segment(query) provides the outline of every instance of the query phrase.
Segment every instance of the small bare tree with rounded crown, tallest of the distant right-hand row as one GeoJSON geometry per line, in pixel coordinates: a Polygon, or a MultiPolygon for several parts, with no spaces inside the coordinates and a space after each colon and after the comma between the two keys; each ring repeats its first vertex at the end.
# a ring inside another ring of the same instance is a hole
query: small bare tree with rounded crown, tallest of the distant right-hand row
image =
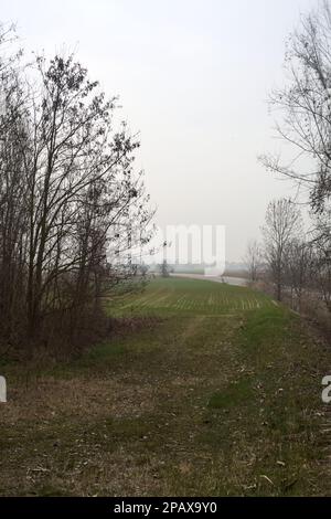
{"type": "Polygon", "coordinates": [[[291,200],[280,199],[269,203],[263,233],[268,271],[278,300],[281,300],[285,284],[287,250],[300,223],[300,212],[291,200]]]}

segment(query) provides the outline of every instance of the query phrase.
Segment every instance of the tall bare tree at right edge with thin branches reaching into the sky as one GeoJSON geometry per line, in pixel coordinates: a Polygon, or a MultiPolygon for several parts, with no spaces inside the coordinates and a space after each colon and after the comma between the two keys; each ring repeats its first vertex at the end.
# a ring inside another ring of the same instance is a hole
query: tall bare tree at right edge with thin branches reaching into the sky
{"type": "MultiPolygon", "coordinates": [[[[289,165],[261,157],[265,166],[303,187],[314,214],[316,240],[331,243],[331,10],[327,0],[301,20],[286,53],[288,82],[270,96],[282,114],[278,136],[290,144],[289,165]]],[[[330,245],[329,245],[330,246],[330,245]]]]}

